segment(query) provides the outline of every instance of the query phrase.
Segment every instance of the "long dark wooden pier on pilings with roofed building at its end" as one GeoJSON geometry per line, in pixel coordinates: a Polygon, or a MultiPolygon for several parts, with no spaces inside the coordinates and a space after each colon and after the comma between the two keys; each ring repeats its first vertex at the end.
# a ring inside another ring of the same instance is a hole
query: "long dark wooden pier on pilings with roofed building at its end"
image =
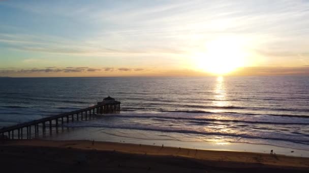
{"type": "Polygon", "coordinates": [[[34,133],[35,137],[39,136],[39,131],[42,131],[42,134],[46,132],[46,126],[49,127],[49,132],[52,132],[52,126],[58,127],[62,126],[64,123],[69,123],[70,121],[79,121],[79,120],[87,120],[87,118],[91,118],[97,114],[109,113],[109,112],[117,112],[120,110],[120,102],[113,101],[105,103],[98,102],[98,105],[91,106],[85,109],[80,109],[77,111],[72,111],[68,113],[61,113],[59,115],[50,116],[30,122],[25,122],[17,125],[13,125],[10,127],[5,127],[0,129],[0,135],[3,139],[7,137],[7,139],[23,139],[24,134],[26,135],[25,139],[31,139],[32,133],[34,133]],[[52,123],[54,122],[54,123],[52,123]],[[39,128],[41,126],[41,128],[39,128]],[[32,130],[34,129],[34,130],[32,130]],[[24,130],[26,130],[24,132],[24,130]]]}

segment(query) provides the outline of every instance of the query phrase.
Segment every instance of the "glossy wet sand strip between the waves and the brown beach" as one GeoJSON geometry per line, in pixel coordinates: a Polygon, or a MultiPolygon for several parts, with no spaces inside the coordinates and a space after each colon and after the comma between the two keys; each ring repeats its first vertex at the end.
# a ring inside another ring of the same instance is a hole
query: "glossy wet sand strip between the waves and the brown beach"
{"type": "MultiPolygon", "coordinates": [[[[191,148],[198,150],[218,150],[218,151],[236,151],[236,152],[253,152],[253,153],[270,153],[273,150],[276,154],[295,156],[295,157],[308,157],[309,150],[294,149],[288,147],[279,147],[266,144],[250,144],[250,143],[230,143],[230,142],[210,142],[210,141],[179,141],[172,140],[171,138],[159,137],[157,133],[147,133],[145,138],[136,138],[136,134],[144,133],[142,131],[121,131],[117,128],[98,128],[98,127],[78,127],[69,128],[69,131],[61,133],[53,133],[53,136],[41,138],[42,140],[51,141],[81,141],[81,140],[95,140],[103,142],[115,143],[129,143],[129,144],[142,144],[151,146],[170,146],[191,148]],[[116,133],[123,132],[127,136],[117,136],[116,133]],[[154,136],[153,136],[154,135],[154,136]],[[154,137],[153,139],[149,139],[154,137]],[[148,138],[148,139],[147,139],[148,138]],[[291,152],[293,151],[293,152],[291,152]]],[[[145,133],[144,133],[145,134],[145,133]]],[[[165,135],[165,134],[160,134],[165,135]]]]}

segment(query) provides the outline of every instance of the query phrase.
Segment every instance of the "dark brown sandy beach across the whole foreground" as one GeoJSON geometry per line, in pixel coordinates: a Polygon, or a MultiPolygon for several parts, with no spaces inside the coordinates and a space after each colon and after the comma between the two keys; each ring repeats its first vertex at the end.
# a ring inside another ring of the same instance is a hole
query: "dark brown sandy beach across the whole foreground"
{"type": "Polygon", "coordinates": [[[11,172],[307,172],[309,158],[97,141],[7,141],[1,167],[11,172]],[[16,166],[18,165],[18,166],[16,166]]]}

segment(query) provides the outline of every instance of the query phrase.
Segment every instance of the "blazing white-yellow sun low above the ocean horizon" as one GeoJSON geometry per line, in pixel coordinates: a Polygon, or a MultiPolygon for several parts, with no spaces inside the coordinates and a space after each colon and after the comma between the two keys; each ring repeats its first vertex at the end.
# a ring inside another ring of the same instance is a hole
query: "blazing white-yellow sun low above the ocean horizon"
{"type": "Polygon", "coordinates": [[[215,75],[224,75],[244,66],[245,51],[236,38],[219,38],[206,44],[206,49],[196,55],[196,66],[215,75]]]}

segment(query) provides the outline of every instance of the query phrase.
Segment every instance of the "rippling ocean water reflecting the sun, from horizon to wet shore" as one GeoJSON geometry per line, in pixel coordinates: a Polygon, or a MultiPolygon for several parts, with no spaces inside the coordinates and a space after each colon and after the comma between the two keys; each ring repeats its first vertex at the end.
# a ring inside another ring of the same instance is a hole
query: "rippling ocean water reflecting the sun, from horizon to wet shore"
{"type": "Polygon", "coordinates": [[[0,78],[0,126],[85,108],[117,114],[65,124],[114,137],[309,150],[309,77],[0,78]]]}

